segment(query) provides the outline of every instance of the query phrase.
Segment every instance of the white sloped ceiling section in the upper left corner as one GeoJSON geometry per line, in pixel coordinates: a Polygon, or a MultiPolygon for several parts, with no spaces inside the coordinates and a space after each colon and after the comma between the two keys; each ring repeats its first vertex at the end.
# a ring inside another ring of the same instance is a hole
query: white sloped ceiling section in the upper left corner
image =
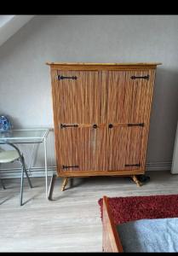
{"type": "Polygon", "coordinates": [[[0,46],[33,17],[34,15],[0,15],[0,46]]]}

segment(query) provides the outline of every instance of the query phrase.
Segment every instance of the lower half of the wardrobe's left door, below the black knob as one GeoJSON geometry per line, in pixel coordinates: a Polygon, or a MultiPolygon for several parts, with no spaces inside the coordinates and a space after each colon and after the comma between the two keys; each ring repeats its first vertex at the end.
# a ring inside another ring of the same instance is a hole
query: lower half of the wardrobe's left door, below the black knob
{"type": "Polygon", "coordinates": [[[94,125],[62,128],[58,132],[57,166],[61,173],[106,171],[106,127],[94,125]]]}

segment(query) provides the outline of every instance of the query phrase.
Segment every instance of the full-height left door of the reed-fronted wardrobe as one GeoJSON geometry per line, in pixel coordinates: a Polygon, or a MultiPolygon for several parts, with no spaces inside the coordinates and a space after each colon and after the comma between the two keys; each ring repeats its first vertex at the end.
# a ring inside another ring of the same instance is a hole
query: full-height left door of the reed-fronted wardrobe
{"type": "Polygon", "coordinates": [[[106,170],[106,73],[57,71],[55,143],[58,172],[106,170]],[[104,161],[103,161],[104,159],[104,161]]]}

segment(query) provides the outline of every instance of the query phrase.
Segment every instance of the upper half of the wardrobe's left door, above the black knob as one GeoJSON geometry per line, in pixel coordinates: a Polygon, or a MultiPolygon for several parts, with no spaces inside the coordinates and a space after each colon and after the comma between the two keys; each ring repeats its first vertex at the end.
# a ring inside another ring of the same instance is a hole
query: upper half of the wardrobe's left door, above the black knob
{"type": "Polygon", "coordinates": [[[106,73],[57,71],[56,118],[66,124],[102,123],[106,119],[106,73]]]}

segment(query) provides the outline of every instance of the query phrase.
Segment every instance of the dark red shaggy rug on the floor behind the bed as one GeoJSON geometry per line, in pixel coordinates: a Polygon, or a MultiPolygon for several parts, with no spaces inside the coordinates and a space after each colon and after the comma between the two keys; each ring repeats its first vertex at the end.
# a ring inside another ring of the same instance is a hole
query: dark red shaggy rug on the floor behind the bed
{"type": "MultiPolygon", "coordinates": [[[[141,218],[178,217],[178,195],[108,197],[115,224],[141,218]]],[[[102,218],[102,198],[98,201],[102,218]]]]}

